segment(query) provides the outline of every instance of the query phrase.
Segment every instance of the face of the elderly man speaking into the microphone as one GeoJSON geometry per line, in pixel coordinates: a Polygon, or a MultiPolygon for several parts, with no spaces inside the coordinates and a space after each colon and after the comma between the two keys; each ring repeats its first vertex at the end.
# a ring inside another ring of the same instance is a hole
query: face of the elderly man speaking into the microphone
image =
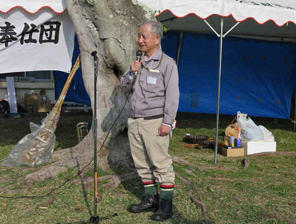
{"type": "Polygon", "coordinates": [[[152,56],[151,53],[154,54],[159,48],[159,40],[159,35],[152,33],[152,28],[149,23],[140,27],[138,34],[138,44],[144,53],[152,56]]]}

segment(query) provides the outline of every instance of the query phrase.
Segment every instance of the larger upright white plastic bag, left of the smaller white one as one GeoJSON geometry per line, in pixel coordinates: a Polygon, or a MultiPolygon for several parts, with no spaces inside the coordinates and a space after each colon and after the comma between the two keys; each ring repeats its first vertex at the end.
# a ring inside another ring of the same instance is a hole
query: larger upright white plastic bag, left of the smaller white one
{"type": "Polygon", "coordinates": [[[237,123],[242,129],[241,139],[243,140],[263,140],[263,133],[254,121],[249,117],[246,119],[241,112],[237,112],[237,123]]]}

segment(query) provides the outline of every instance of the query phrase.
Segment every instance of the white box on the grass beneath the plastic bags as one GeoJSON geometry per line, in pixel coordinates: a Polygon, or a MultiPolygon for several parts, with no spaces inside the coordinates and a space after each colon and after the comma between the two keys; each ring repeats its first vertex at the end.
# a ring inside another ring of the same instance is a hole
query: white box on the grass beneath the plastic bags
{"type": "Polygon", "coordinates": [[[241,140],[241,145],[245,149],[245,155],[259,152],[276,151],[276,142],[241,140]]]}

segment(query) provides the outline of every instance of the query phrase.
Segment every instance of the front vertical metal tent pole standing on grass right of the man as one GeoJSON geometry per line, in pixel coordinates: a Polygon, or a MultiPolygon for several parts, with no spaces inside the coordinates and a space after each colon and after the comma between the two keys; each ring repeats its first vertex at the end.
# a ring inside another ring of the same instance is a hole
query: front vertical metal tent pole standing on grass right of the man
{"type": "Polygon", "coordinates": [[[222,38],[223,38],[223,17],[220,17],[220,51],[219,51],[219,77],[218,77],[218,96],[217,96],[217,115],[216,115],[216,140],[215,140],[215,157],[214,163],[217,164],[217,152],[218,152],[218,134],[219,134],[219,111],[220,111],[220,82],[221,82],[221,62],[222,62],[222,38]]]}

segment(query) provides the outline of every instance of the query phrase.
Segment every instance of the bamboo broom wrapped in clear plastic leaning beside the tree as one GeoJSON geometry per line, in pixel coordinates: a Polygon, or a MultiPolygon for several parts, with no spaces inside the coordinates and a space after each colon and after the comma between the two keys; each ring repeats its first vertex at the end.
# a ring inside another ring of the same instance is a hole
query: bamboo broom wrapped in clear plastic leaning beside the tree
{"type": "MultiPolygon", "coordinates": [[[[60,117],[61,107],[79,64],[80,54],[54,108],[47,117],[42,119],[41,126],[38,126],[37,130],[26,135],[16,144],[5,161],[1,163],[2,166],[34,166],[35,164],[43,164],[48,161],[54,150],[54,132],[60,117]]],[[[31,124],[32,122],[30,126],[31,124]]]]}

